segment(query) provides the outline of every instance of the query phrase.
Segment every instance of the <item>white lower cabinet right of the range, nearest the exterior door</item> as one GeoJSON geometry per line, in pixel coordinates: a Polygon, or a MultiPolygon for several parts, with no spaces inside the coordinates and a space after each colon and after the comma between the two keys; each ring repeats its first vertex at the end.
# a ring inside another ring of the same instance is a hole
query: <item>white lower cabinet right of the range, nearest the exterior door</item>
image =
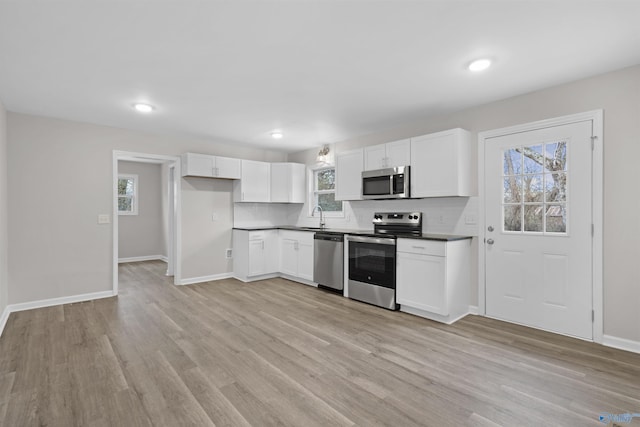
{"type": "Polygon", "coordinates": [[[469,314],[471,239],[398,239],[400,310],[444,323],[469,314]]]}

